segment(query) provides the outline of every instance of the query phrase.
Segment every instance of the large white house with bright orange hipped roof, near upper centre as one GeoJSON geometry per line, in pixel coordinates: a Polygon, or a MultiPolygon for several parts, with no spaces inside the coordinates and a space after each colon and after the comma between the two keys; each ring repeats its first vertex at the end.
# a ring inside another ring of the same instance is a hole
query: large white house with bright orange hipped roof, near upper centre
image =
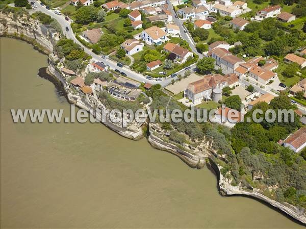
{"type": "Polygon", "coordinates": [[[166,33],[157,26],[152,26],[144,31],[142,31],[142,40],[147,44],[162,44],[166,41],[166,33]]]}

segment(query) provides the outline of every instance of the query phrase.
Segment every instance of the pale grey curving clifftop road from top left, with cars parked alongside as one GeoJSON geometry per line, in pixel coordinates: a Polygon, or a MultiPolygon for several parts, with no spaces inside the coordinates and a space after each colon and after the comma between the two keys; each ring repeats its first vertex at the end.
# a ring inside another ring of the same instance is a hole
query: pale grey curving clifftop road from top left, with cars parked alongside
{"type": "MultiPolygon", "coordinates": [[[[32,1],[31,1],[32,2],[32,1]]],[[[47,15],[50,15],[51,17],[55,18],[61,25],[62,27],[62,30],[63,30],[63,33],[64,35],[68,38],[68,39],[72,39],[75,43],[81,45],[81,47],[84,48],[84,51],[89,54],[90,56],[93,57],[93,59],[97,60],[97,61],[101,61],[107,65],[110,66],[111,69],[118,69],[120,70],[120,72],[124,72],[128,78],[130,79],[133,79],[133,80],[136,80],[136,81],[139,81],[139,82],[147,82],[147,83],[150,83],[150,84],[160,84],[162,85],[162,87],[166,87],[168,84],[171,83],[171,80],[173,78],[167,78],[165,80],[162,80],[162,81],[156,81],[156,80],[148,80],[144,77],[144,75],[142,74],[139,74],[139,73],[136,73],[135,71],[132,71],[131,69],[129,68],[126,68],[126,67],[118,67],[117,66],[117,62],[115,61],[112,61],[110,59],[103,59],[101,58],[100,56],[96,55],[95,53],[91,52],[90,49],[88,49],[86,46],[84,46],[74,35],[74,33],[72,32],[72,29],[70,27],[70,21],[66,21],[65,20],[65,16],[64,15],[57,15],[54,13],[53,10],[47,10],[45,8],[45,6],[41,6],[40,5],[40,1],[33,1],[35,2],[35,4],[37,5],[37,10],[38,11],[41,11],[47,15]],[[67,32],[66,31],[66,27],[69,28],[69,31],[67,32]]],[[[182,71],[184,73],[184,71],[182,71]]],[[[181,73],[181,72],[180,72],[181,73]]],[[[176,79],[176,78],[174,78],[176,79]]]]}

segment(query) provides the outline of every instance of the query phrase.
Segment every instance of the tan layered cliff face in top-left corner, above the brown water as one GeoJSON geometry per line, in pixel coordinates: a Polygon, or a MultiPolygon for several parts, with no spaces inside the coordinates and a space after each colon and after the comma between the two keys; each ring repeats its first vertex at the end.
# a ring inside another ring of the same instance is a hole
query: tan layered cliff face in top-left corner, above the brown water
{"type": "Polygon", "coordinates": [[[1,13],[0,36],[12,36],[42,46],[44,53],[53,52],[53,43],[48,35],[41,31],[41,24],[30,16],[14,17],[1,13]]]}

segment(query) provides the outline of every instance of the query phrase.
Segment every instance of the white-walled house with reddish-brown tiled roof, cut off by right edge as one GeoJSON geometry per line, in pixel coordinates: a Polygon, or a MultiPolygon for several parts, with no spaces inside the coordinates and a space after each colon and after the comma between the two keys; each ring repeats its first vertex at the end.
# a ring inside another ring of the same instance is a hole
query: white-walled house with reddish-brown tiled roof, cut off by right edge
{"type": "Polygon", "coordinates": [[[289,135],[284,141],[284,146],[291,148],[294,152],[301,151],[306,146],[306,127],[302,127],[298,131],[289,135]]]}

